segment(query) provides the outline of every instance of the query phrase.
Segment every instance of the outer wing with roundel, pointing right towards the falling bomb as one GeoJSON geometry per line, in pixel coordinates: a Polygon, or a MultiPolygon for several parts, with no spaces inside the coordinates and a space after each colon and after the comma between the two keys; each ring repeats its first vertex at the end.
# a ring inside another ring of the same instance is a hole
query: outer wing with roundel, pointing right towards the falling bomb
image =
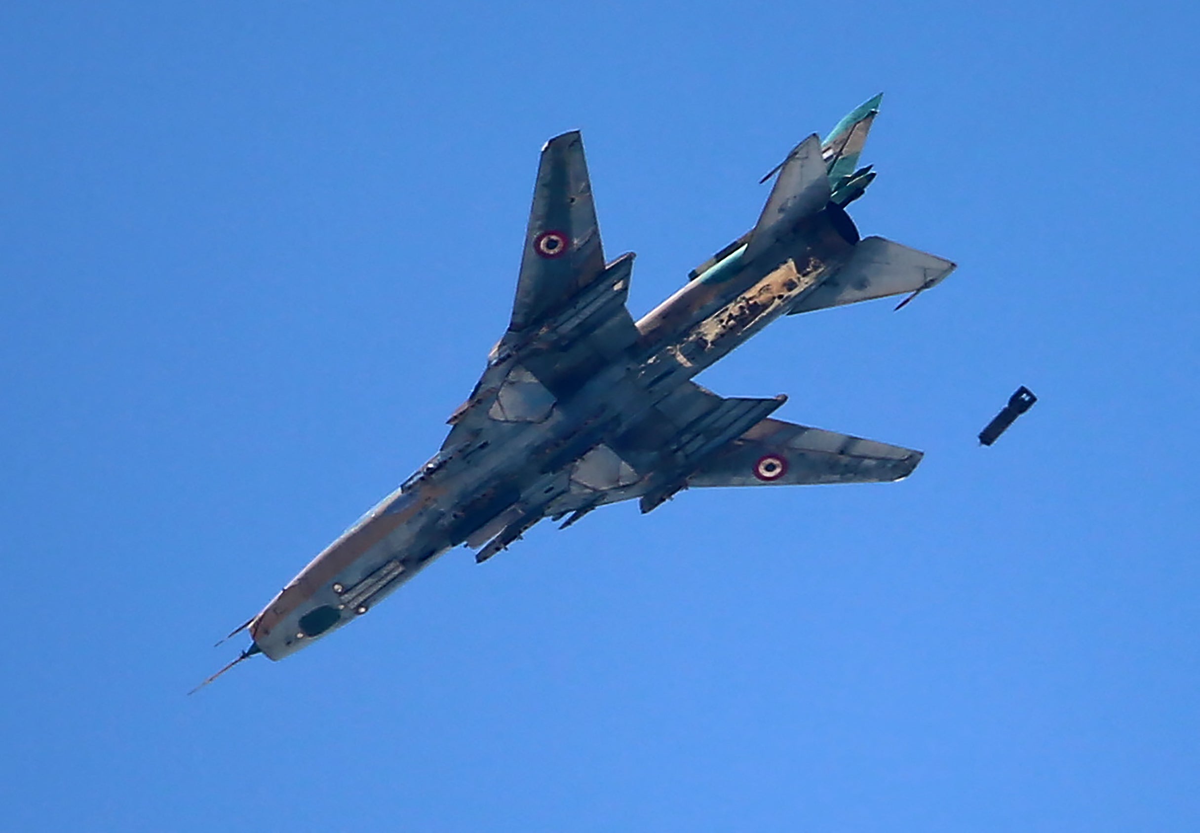
{"type": "Polygon", "coordinates": [[[764,419],[706,461],[689,486],[887,483],[908,477],[920,451],[764,419]]]}

